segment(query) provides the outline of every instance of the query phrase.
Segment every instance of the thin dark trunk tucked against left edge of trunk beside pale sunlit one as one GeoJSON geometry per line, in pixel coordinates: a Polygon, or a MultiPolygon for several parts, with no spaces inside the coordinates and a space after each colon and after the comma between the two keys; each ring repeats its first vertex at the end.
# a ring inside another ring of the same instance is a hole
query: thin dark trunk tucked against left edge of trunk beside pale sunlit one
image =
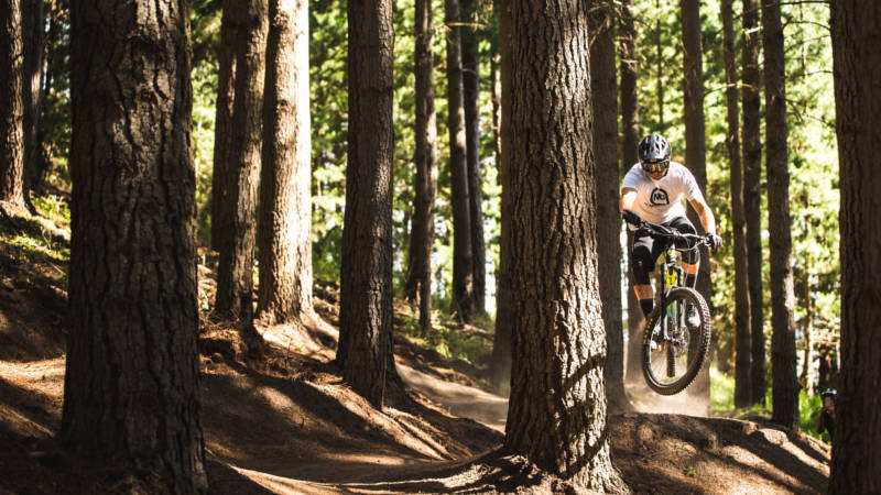
{"type": "Polygon", "coordinates": [[[231,222],[226,213],[229,191],[227,176],[230,170],[232,147],[232,105],[236,92],[236,44],[241,26],[235,15],[235,3],[225,0],[220,20],[220,45],[217,54],[217,103],[214,125],[214,170],[211,174],[211,249],[220,251],[224,239],[232,235],[231,222]]]}

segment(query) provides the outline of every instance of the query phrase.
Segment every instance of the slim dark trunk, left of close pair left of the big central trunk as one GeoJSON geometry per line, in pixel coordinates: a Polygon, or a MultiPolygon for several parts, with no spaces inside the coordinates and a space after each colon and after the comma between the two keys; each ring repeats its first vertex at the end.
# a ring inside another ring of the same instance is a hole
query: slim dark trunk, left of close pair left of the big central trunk
{"type": "Polygon", "coordinates": [[[475,316],[471,208],[468,194],[467,138],[461,70],[459,0],[446,0],[447,24],[447,128],[453,207],[453,304],[459,318],[470,323],[475,316]]]}

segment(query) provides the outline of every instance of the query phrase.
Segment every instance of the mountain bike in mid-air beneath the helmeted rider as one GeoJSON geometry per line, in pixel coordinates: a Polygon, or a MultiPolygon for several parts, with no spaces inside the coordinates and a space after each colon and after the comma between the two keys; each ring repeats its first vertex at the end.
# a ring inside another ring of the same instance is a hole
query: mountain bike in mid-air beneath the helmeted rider
{"type": "Polygon", "coordinates": [[[681,233],[645,220],[640,220],[637,227],[670,240],[663,253],[657,304],[645,321],[642,374],[654,392],[673,395],[684,391],[697,376],[706,361],[710,338],[709,307],[697,290],[682,285],[685,278],[677,251],[697,251],[699,257],[700,246],[710,243],[701,235],[681,233]],[[697,312],[697,324],[688,324],[689,306],[697,312]]]}

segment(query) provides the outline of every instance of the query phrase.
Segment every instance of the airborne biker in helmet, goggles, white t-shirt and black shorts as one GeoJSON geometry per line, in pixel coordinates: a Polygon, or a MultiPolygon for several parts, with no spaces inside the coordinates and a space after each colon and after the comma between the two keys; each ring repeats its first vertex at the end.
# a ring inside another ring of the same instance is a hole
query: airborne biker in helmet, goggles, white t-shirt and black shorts
{"type": "MultiPolygon", "coordinates": [[[[682,197],[685,196],[700,218],[710,248],[720,246],[722,238],[716,234],[716,218],[694,175],[681,163],[670,161],[667,140],[660,134],[649,134],[640,141],[638,151],[640,162],[630,168],[621,184],[619,210],[630,224],[630,230],[635,230],[631,251],[633,289],[643,315],[648,317],[654,306],[654,290],[649,275],[654,271],[655,261],[666,250],[670,240],[655,235],[645,228],[637,230],[634,224],[645,219],[673,228],[679,233],[696,234],[695,227],[685,217],[685,206],[682,202],[682,197]]],[[[685,249],[688,245],[677,242],[676,248],[685,249]]],[[[694,288],[697,282],[698,253],[694,250],[684,251],[682,260],[685,285],[694,288]]],[[[696,327],[700,323],[694,306],[689,305],[686,316],[689,326],[696,327]]]]}

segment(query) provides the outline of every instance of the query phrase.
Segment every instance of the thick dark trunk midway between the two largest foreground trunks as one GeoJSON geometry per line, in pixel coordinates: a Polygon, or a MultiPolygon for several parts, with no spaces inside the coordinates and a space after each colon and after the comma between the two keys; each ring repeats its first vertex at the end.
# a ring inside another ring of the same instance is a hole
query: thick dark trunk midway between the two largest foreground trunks
{"type": "Polygon", "coordinates": [[[349,2],[349,151],[340,270],[342,377],[382,407],[392,355],[391,0],[349,2]],[[345,333],[345,337],[344,337],[345,333]]]}

